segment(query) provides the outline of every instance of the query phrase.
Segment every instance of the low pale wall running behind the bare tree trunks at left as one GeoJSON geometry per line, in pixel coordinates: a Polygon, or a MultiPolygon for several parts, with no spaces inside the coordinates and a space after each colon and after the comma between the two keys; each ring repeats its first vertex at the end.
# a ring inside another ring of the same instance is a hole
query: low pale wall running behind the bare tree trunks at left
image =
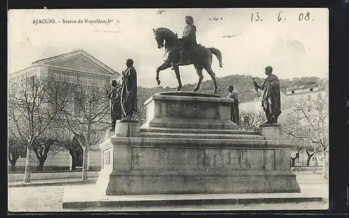
{"type": "MultiPolygon", "coordinates": [[[[98,177],[99,171],[87,172],[88,177],[98,177]]],[[[31,180],[54,180],[54,179],[68,179],[79,178],[82,172],[66,172],[66,173],[31,173],[31,180]]],[[[23,181],[24,173],[10,173],[8,174],[8,182],[23,181]]]]}

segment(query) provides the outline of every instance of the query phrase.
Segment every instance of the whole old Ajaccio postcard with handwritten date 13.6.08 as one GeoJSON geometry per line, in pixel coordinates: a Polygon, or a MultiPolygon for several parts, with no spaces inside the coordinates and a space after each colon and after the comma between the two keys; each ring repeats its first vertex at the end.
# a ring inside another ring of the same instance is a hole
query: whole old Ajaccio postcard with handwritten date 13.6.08
{"type": "Polygon", "coordinates": [[[327,8],[8,10],[8,210],[326,210],[328,75],[327,8]]]}

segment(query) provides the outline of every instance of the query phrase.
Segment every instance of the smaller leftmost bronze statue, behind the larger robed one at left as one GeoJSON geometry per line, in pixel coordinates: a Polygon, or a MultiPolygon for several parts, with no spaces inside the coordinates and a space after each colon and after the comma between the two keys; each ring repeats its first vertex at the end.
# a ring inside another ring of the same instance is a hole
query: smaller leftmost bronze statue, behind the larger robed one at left
{"type": "Polygon", "coordinates": [[[121,89],[117,87],[117,80],[112,80],[112,91],[107,96],[110,99],[110,131],[114,131],[117,119],[121,119],[121,89]]]}

